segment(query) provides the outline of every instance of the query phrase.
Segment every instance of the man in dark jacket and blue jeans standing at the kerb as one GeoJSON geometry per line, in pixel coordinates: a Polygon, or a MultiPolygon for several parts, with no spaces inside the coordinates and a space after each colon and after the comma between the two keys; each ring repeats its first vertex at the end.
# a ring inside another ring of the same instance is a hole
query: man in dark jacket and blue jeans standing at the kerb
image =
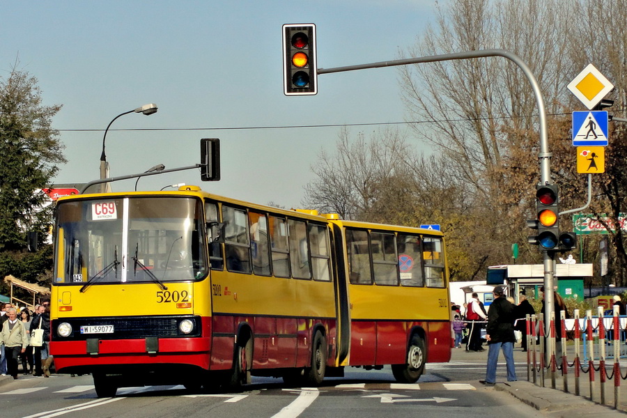
{"type": "Polygon", "coordinates": [[[516,380],[516,366],[513,362],[513,344],[516,336],[513,333],[514,305],[505,299],[504,288],[494,288],[494,302],[488,310],[488,369],[486,380],[479,380],[483,385],[493,386],[496,382],[496,367],[499,360],[499,350],[503,350],[507,368],[507,381],[516,380]]]}

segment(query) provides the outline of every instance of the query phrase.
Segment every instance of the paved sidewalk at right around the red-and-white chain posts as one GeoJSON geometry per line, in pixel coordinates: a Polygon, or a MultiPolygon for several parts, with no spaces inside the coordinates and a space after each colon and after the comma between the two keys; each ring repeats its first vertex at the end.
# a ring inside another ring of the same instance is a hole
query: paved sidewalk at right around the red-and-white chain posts
{"type": "MultiPolygon", "coordinates": [[[[453,355],[451,361],[456,362],[470,362],[477,364],[486,364],[488,359],[487,347],[483,353],[470,352],[467,353],[463,349],[453,349],[453,355]]],[[[516,364],[527,364],[527,353],[523,353],[520,348],[514,348],[514,361],[516,364]]],[[[532,358],[533,361],[533,358],[532,358]]],[[[505,360],[502,353],[499,356],[499,369],[498,371],[504,371],[505,360]]],[[[539,357],[536,355],[536,362],[539,362],[539,357]]],[[[573,359],[568,359],[569,364],[573,362],[573,359]]],[[[612,364],[606,364],[606,367],[611,368],[612,364]]],[[[587,365],[585,365],[587,369],[587,365]]],[[[624,368],[623,368],[624,369],[624,368]]],[[[608,369],[610,371],[610,369],[608,369]]],[[[619,406],[615,410],[614,407],[614,380],[605,382],[605,405],[600,404],[600,385],[598,371],[595,371],[596,381],[594,382],[594,401],[590,400],[590,384],[589,375],[587,373],[581,373],[579,378],[580,396],[575,395],[575,372],[573,367],[568,369],[567,383],[568,392],[564,392],[564,380],[562,378],[562,372],[556,371],[555,373],[555,389],[552,388],[552,378],[550,372],[545,371],[544,385],[541,387],[541,375],[536,372],[536,382],[533,382],[533,375],[531,375],[530,381],[527,380],[527,372],[517,370],[518,381],[517,382],[499,382],[495,385],[495,389],[498,391],[506,392],[511,396],[517,398],[527,405],[531,405],[543,412],[544,416],[548,417],[591,417],[603,418],[603,417],[617,417],[627,414],[627,382],[621,380],[621,387],[619,388],[619,406]]],[[[623,371],[624,373],[624,371],[623,371]]]]}

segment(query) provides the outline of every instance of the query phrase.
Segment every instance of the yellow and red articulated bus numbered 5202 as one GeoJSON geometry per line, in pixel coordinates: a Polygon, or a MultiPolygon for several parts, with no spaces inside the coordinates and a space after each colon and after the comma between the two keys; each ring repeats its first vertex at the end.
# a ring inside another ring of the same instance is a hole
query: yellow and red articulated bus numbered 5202
{"type": "Polygon", "coordinates": [[[320,385],[346,366],[415,382],[451,355],[442,233],[184,186],[59,199],[50,350],[119,387],[320,385]]]}

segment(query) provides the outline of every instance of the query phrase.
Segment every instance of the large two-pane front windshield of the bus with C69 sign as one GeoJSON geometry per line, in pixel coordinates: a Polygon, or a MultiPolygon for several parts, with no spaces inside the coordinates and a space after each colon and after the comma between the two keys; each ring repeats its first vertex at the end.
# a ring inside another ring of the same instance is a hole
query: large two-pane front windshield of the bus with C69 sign
{"type": "Polygon", "coordinates": [[[201,201],[114,197],[61,201],[55,284],[145,283],[207,274],[201,201]]]}

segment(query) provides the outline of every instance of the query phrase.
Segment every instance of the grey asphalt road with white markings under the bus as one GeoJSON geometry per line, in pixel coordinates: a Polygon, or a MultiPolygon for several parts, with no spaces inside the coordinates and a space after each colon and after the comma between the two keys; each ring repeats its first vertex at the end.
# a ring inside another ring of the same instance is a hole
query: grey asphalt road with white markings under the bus
{"type": "MultiPolygon", "coordinates": [[[[245,391],[233,394],[201,394],[182,386],[160,386],[124,388],[118,390],[116,398],[97,398],[91,376],[21,376],[0,386],[0,417],[539,416],[537,410],[516,398],[479,384],[486,355],[472,355],[477,357],[472,362],[454,356],[448,364],[428,364],[414,385],[397,384],[390,369],[347,369],[344,378],[326,379],[318,388],[288,387],[281,379],[254,378],[245,391]]],[[[520,373],[525,372],[525,366],[518,364],[520,373]]]]}

